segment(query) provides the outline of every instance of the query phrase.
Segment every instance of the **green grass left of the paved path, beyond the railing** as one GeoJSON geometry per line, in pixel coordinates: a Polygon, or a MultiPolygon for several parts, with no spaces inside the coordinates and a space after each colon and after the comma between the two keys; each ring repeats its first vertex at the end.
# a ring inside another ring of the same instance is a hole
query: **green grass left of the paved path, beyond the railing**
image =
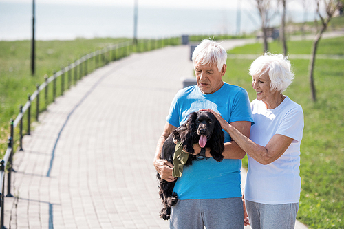
{"type": "MultiPolygon", "coordinates": [[[[36,83],[44,82],[43,76],[52,76],[53,70],[61,69],[61,65],[67,66],[74,63],[85,54],[100,50],[108,45],[130,41],[125,38],[118,39],[76,39],[73,41],[36,41],[36,73],[30,72],[30,41],[0,41],[0,157],[6,152],[7,139],[10,136],[10,118],[14,119],[19,113],[19,106],[25,105],[28,94],[36,90],[36,83]]],[[[122,47],[117,51],[108,52],[104,57],[98,58],[98,62],[90,59],[87,64],[87,72],[103,66],[105,60],[116,60],[130,52],[144,52],[165,45],[178,45],[179,38],[164,40],[139,40],[138,45],[122,47]]],[[[80,67],[78,67],[80,78],[80,67]]],[[[67,88],[67,73],[65,74],[65,87],[67,88]]],[[[74,84],[74,70],[71,72],[72,84],[74,84]]],[[[61,95],[61,76],[56,79],[56,96],[61,95]]],[[[47,103],[53,101],[52,83],[49,85],[47,103]]],[[[46,109],[44,92],[41,92],[39,112],[46,109]]],[[[36,100],[32,102],[31,120],[36,116],[36,100]]],[[[25,114],[24,134],[27,130],[27,114],[25,114]]],[[[19,128],[14,130],[15,146],[19,142],[19,128]]],[[[14,148],[15,149],[15,148],[14,148]]]]}

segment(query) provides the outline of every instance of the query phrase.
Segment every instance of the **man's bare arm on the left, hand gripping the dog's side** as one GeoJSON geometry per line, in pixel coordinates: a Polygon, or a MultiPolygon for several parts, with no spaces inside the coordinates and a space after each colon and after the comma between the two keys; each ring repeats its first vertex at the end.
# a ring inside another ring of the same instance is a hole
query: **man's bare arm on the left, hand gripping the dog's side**
{"type": "Polygon", "coordinates": [[[173,177],[172,171],[173,171],[173,164],[160,159],[161,151],[162,151],[162,145],[166,141],[167,138],[169,138],[169,135],[176,129],[173,125],[169,124],[169,122],[166,122],[164,131],[162,132],[162,135],[160,136],[158,140],[158,144],[156,146],[155,151],[155,157],[154,157],[154,167],[155,170],[158,171],[160,174],[160,177],[167,182],[173,182],[176,178],[173,177]]]}

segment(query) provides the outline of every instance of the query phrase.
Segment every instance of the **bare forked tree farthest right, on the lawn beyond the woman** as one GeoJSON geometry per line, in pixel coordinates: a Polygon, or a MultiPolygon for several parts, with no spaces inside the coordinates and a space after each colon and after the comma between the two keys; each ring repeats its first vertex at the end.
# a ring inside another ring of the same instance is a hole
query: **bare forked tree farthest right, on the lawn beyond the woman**
{"type": "Polygon", "coordinates": [[[316,101],[316,89],[314,85],[314,64],[316,59],[316,50],[319,45],[319,41],[323,32],[327,29],[327,25],[330,23],[334,12],[338,9],[341,0],[315,0],[316,13],[318,14],[321,21],[321,29],[317,32],[313,40],[312,45],[312,56],[308,67],[308,76],[310,79],[310,89],[312,92],[312,100],[316,101]],[[324,12],[323,12],[324,11],[324,12]]]}

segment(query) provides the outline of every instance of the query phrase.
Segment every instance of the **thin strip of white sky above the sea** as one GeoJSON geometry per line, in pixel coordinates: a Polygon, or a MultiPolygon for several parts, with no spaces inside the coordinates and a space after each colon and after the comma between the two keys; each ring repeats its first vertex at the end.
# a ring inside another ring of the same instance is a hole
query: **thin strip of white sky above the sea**
{"type": "MultiPolygon", "coordinates": [[[[32,3],[32,0],[0,0],[1,2],[32,3]]],[[[98,5],[98,6],[133,6],[135,0],[35,0],[35,3],[73,4],[73,5],[98,5]]],[[[241,7],[253,0],[137,0],[138,6],[164,7],[164,8],[237,8],[241,1],[241,7]]],[[[299,0],[292,0],[292,8],[302,10],[299,0]]]]}

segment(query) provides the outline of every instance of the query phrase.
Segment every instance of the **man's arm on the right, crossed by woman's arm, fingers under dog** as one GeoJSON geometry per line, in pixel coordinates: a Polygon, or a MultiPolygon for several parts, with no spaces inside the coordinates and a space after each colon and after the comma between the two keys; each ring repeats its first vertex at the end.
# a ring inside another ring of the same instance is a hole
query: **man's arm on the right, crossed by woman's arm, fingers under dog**
{"type": "MultiPolygon", "coordinates": [[[[247,138],[250,138],[251,122],[239,121],[231,122],[230,124],[247,138]]],[[[201,151],[198,144],[195,144],[193,149],[195,150],[195,154],[198,154],[201,151]]],[[[206,148],[206,157],[211,157],[210,152],[210,148],[206,148]]],[[[235,141],[232,140],[224,144],[224,153],[222,153],[222,155],[224,155],[224,159],[243,159],[246,153],[235,141]]]]}

